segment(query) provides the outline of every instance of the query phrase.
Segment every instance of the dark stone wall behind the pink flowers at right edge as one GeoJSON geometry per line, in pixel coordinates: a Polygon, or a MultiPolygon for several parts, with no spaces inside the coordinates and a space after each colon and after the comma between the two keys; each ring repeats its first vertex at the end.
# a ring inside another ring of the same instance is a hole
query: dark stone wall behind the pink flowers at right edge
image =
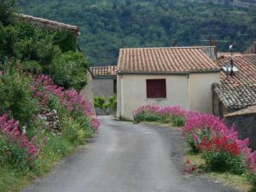
{"type": "Polygon", "coordinates": [[[239,137],[241,139],[249,138],[250,147],[256,149],[256,115],[242,115],[234,117],[226,117],[225,121],[228,125],[236,125],[239,137]]]}

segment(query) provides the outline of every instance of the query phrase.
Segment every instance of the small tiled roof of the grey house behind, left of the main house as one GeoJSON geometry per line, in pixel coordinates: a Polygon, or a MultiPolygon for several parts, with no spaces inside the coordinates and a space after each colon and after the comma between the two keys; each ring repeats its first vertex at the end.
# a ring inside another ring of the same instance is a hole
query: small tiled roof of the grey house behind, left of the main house
{"type": "Polygon", "coordinates": [[[90,73],[94,78],[116,76],[116,66],[90,67],[90,73]]]}

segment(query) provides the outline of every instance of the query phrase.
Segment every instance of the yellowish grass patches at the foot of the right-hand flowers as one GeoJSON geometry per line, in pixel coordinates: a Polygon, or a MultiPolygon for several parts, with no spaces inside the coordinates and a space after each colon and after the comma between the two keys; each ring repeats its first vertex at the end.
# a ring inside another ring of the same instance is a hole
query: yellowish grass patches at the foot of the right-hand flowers
{"type": "MultiPolygon", "coordinates": [[[[201,154],[193,154],[190,151],[185,153],[186,159],[192,161],[195,166],[201,166],[204,164],[204,160],[201,158],[201,154]]],[[[229,172],[206,172],[207,176],[214,178],[219,183],[233,187],[234,189],[248,192],[252,189],[252,184],[249,182],[246,175],[235,175],[229,172]]]]}

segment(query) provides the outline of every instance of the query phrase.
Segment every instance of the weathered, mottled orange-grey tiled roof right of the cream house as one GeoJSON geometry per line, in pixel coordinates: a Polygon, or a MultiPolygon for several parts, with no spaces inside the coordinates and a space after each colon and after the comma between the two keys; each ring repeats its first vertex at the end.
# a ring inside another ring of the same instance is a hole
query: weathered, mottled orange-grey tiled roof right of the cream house
{"type": "MultiPolygon", "coordinates": [[[[224,67],[230,62],[230,56],[218,59],[218,66],[224,67]]],[[[215,84],[213,89],[227,108],[247,108],[256,102],[256,55],[236,55],[234,65],[238,73],[228,76],[220,73],[220,84],[215,84]]]]}

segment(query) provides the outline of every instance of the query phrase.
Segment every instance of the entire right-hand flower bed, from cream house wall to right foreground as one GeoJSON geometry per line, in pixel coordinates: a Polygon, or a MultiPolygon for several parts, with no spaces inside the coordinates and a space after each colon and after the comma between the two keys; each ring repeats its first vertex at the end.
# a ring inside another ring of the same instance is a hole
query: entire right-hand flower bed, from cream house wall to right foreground
{"type": "Polygon", "coordinates": [[[159,108],[154,105],[137,108],[133,114],[136,122],[183,118],[183,137],[193,153],[201,154],[205,170],[256,173],[256,151],[248,147],[249,139],[239,139],[236,127],[228,127],[218,117],[179,107],[159,108]]]}

